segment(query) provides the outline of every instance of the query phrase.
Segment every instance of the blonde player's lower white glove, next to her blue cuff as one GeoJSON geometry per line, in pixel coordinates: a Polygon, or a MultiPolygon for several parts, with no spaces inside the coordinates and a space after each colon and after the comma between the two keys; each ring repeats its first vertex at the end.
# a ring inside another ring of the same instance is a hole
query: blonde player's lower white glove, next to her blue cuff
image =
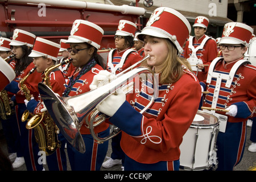
{"type": "Polygon", "coordinates": [[[96,109],[112,117],[126,100],[125,93],[123,93],[122,89],[117,89],[116,92],[117,94],[110,94],[105,100],[101,101],[96,106],[96,109]]]}

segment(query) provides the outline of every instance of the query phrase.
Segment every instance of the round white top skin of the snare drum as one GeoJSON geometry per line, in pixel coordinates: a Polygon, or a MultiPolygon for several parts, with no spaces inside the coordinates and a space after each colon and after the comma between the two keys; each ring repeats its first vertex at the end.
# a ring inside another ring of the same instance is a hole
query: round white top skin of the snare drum
{"type": "Polygon", "coordinates": [[[218,118],[212,114],[198,110],[191,126],[212,126],[218,125],[218,118]]]}

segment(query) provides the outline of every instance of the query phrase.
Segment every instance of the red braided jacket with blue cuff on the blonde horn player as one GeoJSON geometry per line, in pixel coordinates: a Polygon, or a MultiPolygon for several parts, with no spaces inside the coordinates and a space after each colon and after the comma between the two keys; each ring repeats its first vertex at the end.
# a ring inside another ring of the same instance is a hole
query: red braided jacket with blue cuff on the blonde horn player
{"type": "Polygon", "coordinates": [[[158,85],[158,97],[141,114],[139,111],[151,98],[145,93],[151,85],[143,85],[141,93],[128,94],[124,104],[109,119],[123,131],[122,150],[139,163],[177,160],[183,135],[199,107],[200,84],[193,73],[184,71],[177,82],[158,85]]]}

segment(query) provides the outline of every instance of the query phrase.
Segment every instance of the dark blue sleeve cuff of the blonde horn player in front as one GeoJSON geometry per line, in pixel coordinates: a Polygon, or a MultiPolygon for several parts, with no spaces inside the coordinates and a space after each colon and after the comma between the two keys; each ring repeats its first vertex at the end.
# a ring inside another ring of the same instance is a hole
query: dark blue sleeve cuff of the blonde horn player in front
{"type": "Polygon", "coordinates": [[[109,121],[129,135],[142,135],[142,114],[136,111],[127,101],[125,101],[121,107],[119,107],[109,121]]]}

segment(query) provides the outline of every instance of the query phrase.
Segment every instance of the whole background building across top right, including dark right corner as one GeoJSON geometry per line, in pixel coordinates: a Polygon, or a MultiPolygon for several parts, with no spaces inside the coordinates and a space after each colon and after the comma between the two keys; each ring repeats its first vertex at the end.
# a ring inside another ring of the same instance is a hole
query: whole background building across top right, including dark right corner
{"type": "MultiPolygon", "coordinates": [[[[254,34],[256,31],[256,19],[252,18],[256,17],[256,0],[105,0],[105,3],[144,7],[147,10],[144,18],[157,7],[171,7],[183,14],[191,25],[195,22],[196,16],[206,16],[210,20],[207,35],[213,38],[221,36],[224,24],[228,22],[246,23],[254,28],[254,34]],[[146,7],[145,2],[153,2],[153,6],[146,7]]],[[[143,19],[141,23],[146,24],[143,19]]]]}

